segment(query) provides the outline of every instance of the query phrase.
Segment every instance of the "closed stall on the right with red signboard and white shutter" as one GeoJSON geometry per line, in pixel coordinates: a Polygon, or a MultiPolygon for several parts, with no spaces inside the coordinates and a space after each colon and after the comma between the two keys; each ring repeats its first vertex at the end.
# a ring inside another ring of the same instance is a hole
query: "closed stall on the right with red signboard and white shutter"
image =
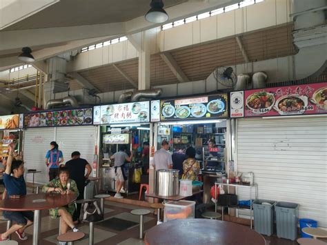
{"type": "MultiPolygon", "coordinates": [[[[297,203],[299,218],[326,226],[327,83],[235,91],[230,98],[235,170],[253,173],[259,199],[297,203]]],[[[237,196],[249,199],[246,190],[237,196]]]]}

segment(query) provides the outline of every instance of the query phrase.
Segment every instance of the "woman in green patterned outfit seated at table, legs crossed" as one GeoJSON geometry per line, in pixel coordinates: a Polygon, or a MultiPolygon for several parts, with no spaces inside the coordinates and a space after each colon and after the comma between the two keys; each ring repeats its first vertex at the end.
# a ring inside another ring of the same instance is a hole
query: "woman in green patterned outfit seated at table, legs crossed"
{"type": "MultiPolygon", "coordinates": [[[[74,180],[69,178],[68,168],[66,168],[65,166],[59,168],[59,177],[52,179],[49,184],[43,186],[42,191],[44,193],[57,192],[61,195],[67,195],[70,193],[79,195],[77,184],[74,180]]],[[[52,219],[61,217],[61,234],[67,233],[68,227],[72,228],[73,232],[79,231],[78,228],[72,222],[72,214],[74,212],[74,203],[68,204],[68,206],[50,209],[50,216],[52,217],[52,219]]]]}

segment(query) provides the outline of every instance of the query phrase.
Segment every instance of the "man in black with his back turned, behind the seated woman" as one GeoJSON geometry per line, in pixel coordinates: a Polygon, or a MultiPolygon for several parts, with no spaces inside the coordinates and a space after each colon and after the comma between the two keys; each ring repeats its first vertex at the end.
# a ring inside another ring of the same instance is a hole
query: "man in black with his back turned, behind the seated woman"
{"type": "MultiPolygon", "coordinates": [[[[84,188],[86,179],[91,174],[92,168],[86,159],[81,158],[81,153],[75,151],[72,153],[72,159],[65,164],[69,171],[70,179],[75,180],[79,190],[77,200],[84,199],[84,188]],[[86,172],[87,170],[87,172],[86,172]],[[86,173],[85,173],[86,172],[86,173]]],[[[81,204],[77,204],[77,209],[72,215],[72,221],[79,223],[79,214],[81,213],[81,204]]]]}

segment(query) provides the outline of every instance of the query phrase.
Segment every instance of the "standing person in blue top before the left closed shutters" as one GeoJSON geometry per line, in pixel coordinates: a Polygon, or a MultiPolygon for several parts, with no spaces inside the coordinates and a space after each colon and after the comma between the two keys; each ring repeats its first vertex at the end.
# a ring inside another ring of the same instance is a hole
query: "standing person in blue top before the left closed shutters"
{"type": "Polygon", "coordinates": [[[46,166],[49,168],[49,181],[59,173],[59,165],[63,162],[63,153],[56,141],[50,142],[50,150],[46,153],[46,166]]]}

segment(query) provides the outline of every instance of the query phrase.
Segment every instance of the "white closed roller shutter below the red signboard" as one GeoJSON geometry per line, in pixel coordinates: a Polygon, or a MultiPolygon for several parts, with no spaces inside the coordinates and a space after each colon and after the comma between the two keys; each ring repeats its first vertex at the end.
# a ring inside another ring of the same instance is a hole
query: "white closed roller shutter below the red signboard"
{"type": "Polygon", "coordinates": [[[326,117],[238,119],[236,144],[237,170],[254,173],[259,199],[295,202],[299,218],[327,227],[326,117]]]}

